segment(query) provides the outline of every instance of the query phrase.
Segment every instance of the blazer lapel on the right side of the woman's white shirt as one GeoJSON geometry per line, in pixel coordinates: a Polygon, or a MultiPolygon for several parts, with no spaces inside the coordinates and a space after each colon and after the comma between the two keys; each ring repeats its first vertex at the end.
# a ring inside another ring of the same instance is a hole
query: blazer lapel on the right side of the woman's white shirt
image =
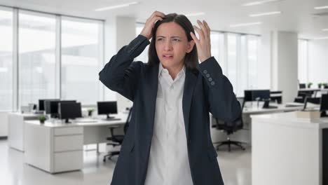
{"type": "Polygon", "coordinates": [[[193,74],[189,69],[186,69],[186,79],[184,81],[184,95],[182,97],[182,111],[184,113],[184,127],[186,129],[187,139],[189,139],[189,112],[196,81],[197,76],[193,74]]]}

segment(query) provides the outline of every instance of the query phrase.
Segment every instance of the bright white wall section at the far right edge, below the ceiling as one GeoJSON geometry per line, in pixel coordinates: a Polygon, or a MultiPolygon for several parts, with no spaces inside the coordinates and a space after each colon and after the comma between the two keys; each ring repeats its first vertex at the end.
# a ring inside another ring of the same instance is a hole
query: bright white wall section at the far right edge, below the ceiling
{"type": "Polygon", "coordinates": [[[317,88],[317,83],[328,83],[328,40],[308,42],[308,81],[317,88]]]}

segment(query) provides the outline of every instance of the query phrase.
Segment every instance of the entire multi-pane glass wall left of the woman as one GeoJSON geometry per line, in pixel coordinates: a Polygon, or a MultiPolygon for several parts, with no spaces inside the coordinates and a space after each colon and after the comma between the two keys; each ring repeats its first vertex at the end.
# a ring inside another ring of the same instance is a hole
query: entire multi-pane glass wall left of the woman
{"type": "Polygon", "coordinates": [[[103,29],[102,20],[0,6],[0,111],[46,98],[104,100],[103,29]]]}

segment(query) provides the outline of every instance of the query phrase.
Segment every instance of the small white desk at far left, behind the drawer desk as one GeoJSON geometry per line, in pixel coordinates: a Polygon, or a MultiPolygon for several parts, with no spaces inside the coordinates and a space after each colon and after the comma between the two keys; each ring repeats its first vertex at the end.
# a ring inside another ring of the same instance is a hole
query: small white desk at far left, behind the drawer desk
{"type": "Polygon", "coordinates": [[[39,114],[8,113],[8,145],[24,151],[24,121],[37,120],[39,114]]]}

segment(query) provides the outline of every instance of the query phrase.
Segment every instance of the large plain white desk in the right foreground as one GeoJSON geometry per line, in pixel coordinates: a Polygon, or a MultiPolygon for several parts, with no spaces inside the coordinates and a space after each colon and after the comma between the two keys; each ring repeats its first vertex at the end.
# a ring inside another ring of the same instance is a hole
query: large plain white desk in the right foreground
{"type": "Polygon", "coordinates": [[[252,117],[253,185],[328,183],[328,118],[295,112],[252,117]]]}

